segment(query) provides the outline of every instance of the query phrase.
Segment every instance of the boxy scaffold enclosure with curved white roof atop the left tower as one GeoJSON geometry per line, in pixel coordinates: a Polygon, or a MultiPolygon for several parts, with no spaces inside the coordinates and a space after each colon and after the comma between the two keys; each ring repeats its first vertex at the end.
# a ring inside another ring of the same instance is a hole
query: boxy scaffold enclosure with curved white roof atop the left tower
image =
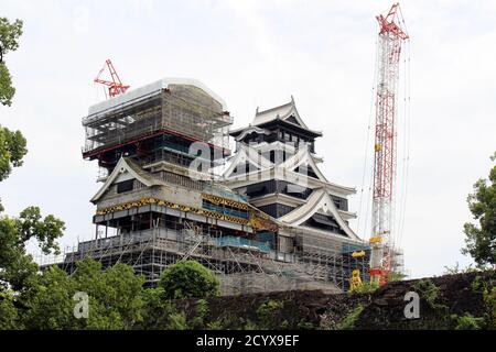
{"type": "Polygon", "coordinates": [[[83,156],[93,160],[108,151],[168,135],[161,146],[187,154],[190,145],[182,141],[203,142],[222,158],[230,153],[231,123],[222,102],[202,88],[159,81],[90,108],[83,119],[83,156]]]}

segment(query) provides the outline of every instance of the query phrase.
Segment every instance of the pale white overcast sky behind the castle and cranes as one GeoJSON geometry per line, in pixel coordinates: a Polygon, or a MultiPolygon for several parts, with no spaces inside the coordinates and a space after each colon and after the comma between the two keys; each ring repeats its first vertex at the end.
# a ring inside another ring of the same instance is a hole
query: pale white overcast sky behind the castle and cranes
{"type": "MultiPolygon", "coordinates": [[[[24,166],[0,184],[6,212],[37,205],[64,219],[64,246],[94,235],[89,198],[100,185],[95,163],[82,160],[80,119],[103,98],[93,79],[108,57],[132,87],[162,77],[200,79],[227,102],[235,128],[248,124],[257,107],[294,96],[306,124],[324,133],[316,143],[323,173],[357,188],[351,210],[358,212],[375,15],[390,4],[0,0],[0,16],[24,21],[20,48],[7,56],[17,95],[11,108],[0,107],[0,123],[20,129],[29,146],[24,166]]],[[[408,271],[420,277],[471,263],[460,253],[463,223],[471,220],[465,199],[474,182],[487,177],[496,150],[496,1],[408,0],[401,7],[411,36],[401,245],[408,271]]],[[[368,198],[363,223],[370,221],[368,198]]],[[[363,228],[358,234],[368,238],[363,228]]]]}

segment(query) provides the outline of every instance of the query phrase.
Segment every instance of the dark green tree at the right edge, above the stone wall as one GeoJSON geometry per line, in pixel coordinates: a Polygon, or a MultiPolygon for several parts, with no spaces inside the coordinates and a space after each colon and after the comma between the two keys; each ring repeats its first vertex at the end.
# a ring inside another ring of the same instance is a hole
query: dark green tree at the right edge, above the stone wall
{"type": "MultiPolygon", "coordinates": [[[[496,153],[490,157],[496,161],[496,153]]],[[[483,267],[496,266],[496,166],[489,172],[489,179],[478,179],[474,193],[467,197],[468,209],[478,224],[465,223],[465,248],[475,263],[483,267]]]]}

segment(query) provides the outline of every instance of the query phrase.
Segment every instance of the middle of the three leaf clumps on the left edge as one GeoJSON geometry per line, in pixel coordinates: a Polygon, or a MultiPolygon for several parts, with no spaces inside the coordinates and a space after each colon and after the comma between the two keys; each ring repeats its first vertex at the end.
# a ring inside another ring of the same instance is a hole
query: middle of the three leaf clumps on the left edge
{"type": "Polygon", "coordinates": [[[22,166],[22,158],[26,153],[26,141],[22,133],[0,125],[0,182],[9,177],[12,167],[22,166]]]}

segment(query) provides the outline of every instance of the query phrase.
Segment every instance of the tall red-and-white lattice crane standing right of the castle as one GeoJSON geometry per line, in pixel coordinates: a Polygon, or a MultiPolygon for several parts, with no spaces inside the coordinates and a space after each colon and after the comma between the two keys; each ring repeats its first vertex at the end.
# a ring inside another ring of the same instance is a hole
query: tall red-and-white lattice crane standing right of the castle
{"type": "Polygon", "coordinates": [[[399,3],[386,16],[378,15],[378,76],[376,90],[376,125],[373,187],[373,224],[370,280],[379,285],[388,280],[393,261],[392,224],[397,167],[397,111],[400,53],[408,40],[399,3]]]}

